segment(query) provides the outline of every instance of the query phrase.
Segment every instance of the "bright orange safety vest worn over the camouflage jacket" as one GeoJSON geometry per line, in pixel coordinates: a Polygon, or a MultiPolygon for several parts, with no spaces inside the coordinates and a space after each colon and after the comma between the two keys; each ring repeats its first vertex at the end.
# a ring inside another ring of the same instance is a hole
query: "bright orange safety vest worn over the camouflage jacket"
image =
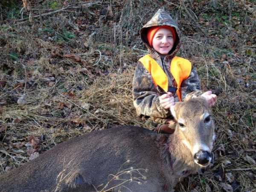
{"type": "MultiPolygon", "coordinates": [[[[159,85],[166,92],[168,91],[168,78],[163,69],[159,66],[157,61],[151,58],[150,55],[144,55],[139,61],[151,74],[154,85],[159,85]]],[[[189,77],[191,72],[191,62],[185,58],[175,56],[171,61],[170,72],[177,83],[176,94],[181,101],[181,83],[189,77]]]]}

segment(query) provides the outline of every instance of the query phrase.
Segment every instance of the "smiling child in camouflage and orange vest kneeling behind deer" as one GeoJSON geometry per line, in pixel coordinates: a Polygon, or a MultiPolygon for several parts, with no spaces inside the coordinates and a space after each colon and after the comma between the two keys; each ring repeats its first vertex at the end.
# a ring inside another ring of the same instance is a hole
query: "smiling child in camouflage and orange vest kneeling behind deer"
{"type": "Polygon", "coordinates": [[[163,9],[140,30],[149,55],[140,58],[134,73],[133,98],[137,113],[149,129],[172,134],[176,122],[170,107],[193,96],[203,96],[210,106],[217,96],[201,93],[200,80],[191,63],[175,56],[180,48],[179,29],[163,9]]]}

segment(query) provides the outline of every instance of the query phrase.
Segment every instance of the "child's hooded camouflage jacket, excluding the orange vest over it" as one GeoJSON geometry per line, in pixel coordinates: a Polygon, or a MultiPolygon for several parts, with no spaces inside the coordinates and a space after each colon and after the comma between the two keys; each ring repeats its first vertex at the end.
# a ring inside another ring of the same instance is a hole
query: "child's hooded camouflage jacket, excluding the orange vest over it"
{"type": "MultiPolygon", "coordinates": [[[[170,73],[170,63],[172,58],[175,56],[177,51],[180,48],[180,31],[177,27],[177,24],[172,19],[172,17],[162,9],[159,9],[157,13],[151,18],[148,23],[146,23],[143,28],[140,30],[140,36],[148,48],[148,52],[157,63],[162,67],[164,72],[168,77],[168,84],[172,87],[177,87],[177,84],[170,73]],[[176,41],[172,50],[168,55],[160,55],[153,48],[151,48],[147,41],[147,29],[151,26],[161,26],[168,25],[175,27],[176,29],[176,41]]],[[[188,93],[189,95],[193,93],[198,93],[200,90],[200,80],[198,74],[195,71],[195,68],[192,67],[189,77],[184,80],[181,84],[182,90],[182,99],[184,99],[188,93]]],[[[133,99],[134,106],[138,115],[148,117],[154,117],[156,122],[163,122],[161,119],[172,119],[171,113],[169,110],[161,107],[159,101],[159,93],[157,93],[156,87],[154,86],[153,79],[148,70],[143,66],[140,61],[137,64],[134,79],[133,79],[133,99]],[[158,120],[156,120],[158,119],[158,120]]],[[[175,102],[178,101],[177,95],[175,93],[175,102]]]]}

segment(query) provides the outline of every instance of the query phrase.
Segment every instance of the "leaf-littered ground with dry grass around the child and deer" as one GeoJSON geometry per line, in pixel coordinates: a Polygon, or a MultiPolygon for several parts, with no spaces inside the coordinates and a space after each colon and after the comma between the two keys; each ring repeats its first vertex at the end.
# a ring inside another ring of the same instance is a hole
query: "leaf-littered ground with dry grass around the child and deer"
{"type": "Polygon", "coordinates": [[[256,191],[255,0],[23,2],[0,2],[0,173],[84,133],[143,126],[131,92],[147,53],[139,30],[164,8],[183,35],[178,55],[218,95],[214,161],[176,190],[256,191]]]}

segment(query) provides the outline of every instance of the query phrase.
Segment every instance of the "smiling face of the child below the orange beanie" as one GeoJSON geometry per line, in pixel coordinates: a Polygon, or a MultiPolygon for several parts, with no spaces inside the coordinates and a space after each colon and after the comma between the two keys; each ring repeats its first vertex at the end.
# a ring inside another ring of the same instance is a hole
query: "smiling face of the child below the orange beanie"
{"type": "Polygon", "coordinates": [[[172,32],[166,28],[157,30],[152,41],[152,47],[162,55],[167,55],[172,49],[174,40],[172,32]]]}

